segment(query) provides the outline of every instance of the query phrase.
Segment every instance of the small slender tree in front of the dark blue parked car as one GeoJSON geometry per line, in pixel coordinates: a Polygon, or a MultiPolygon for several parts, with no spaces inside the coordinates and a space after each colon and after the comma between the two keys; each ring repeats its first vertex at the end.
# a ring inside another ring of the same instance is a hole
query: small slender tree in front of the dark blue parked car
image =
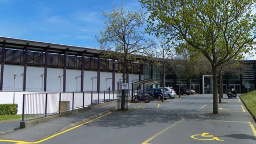
{"type": "Polygon", "coordinates": [[[170,59],[175,55],[175,49],[172,45],[167,44],[164,39],[159,42],[158,47],[155,51],[150,51],[146,60],[153,62],[156,68],[162,73],[162,84],[163,84],[163,97],[162,102],[164,102],[164,87],[165,87],[165,77],[166,74],[171,74],[170,59]]]}

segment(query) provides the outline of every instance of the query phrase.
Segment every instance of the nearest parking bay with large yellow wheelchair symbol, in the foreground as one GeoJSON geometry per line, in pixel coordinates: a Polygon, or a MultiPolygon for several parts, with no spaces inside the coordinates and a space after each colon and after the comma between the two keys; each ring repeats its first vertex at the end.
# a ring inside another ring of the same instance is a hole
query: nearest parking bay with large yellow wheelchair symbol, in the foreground
{"type": "Polygon", "coordinates": [[[254,143],[256,135],[249,122],[182,119],[152,135],[146,143],[254,143]],[[250,131],[248,131],[250,130],[250,131]]]}

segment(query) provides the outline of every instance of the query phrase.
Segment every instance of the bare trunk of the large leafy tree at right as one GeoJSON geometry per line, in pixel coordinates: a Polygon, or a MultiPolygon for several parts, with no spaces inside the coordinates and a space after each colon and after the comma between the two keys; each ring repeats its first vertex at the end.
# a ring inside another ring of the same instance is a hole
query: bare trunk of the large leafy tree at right
{"type": "Polygon", "coordinates": [[[213,114],[219,113],[218,108],[218,77],[217,77],[217,68],[212,66],[213,74],[213,114]]]}

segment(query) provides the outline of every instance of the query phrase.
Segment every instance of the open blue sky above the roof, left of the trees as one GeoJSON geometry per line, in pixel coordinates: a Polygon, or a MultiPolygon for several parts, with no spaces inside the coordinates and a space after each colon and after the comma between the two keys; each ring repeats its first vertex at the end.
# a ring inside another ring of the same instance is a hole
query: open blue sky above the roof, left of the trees
{"type": "MultiPolygon", "coordinates": [[[[110,12],[118,0],[0,0],[0,36],[98,48],[94,36],[103,29],[101,9],[110,12]]],[[[138,0],[124,1],[137,10],[138,0]]]]}

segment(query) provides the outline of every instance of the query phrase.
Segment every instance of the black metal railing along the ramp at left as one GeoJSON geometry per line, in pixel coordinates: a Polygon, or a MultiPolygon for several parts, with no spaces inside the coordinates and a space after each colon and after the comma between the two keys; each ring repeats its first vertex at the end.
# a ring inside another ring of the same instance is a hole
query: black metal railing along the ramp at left
{"type": "Polygon", "coordinates": [[[23,94],[22,121],[116,100],[117,91],[23,94]]]}

